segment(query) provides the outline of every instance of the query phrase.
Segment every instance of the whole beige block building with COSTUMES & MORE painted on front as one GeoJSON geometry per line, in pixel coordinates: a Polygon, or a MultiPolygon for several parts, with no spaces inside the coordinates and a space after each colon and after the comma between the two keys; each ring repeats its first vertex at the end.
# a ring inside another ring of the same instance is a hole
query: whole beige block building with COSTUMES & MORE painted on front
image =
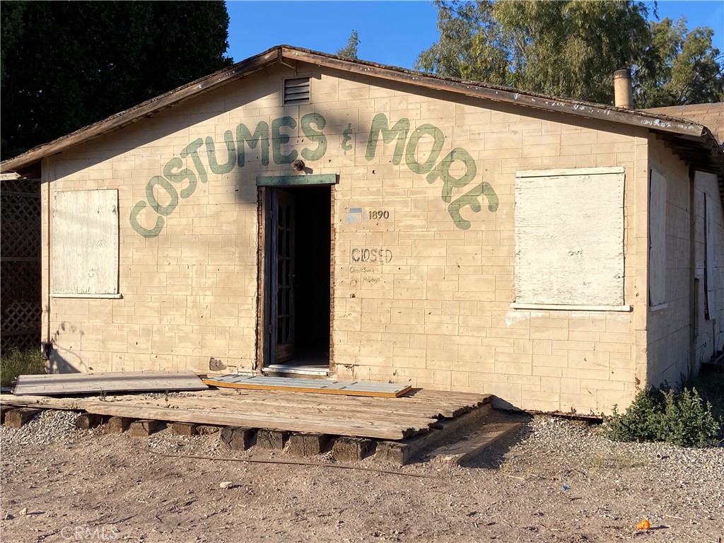
{"type": "Polygon", "coordinates": [[[279,46],[2,172],[41,179],[53,371],[607,413],[724,346],[724,152],[671,113],[279,46]]]}

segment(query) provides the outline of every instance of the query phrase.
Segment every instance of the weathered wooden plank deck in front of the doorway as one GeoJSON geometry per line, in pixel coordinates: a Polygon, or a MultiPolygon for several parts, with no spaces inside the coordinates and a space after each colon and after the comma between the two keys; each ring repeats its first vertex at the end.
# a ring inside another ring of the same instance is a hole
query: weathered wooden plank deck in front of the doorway
{"type": "Polygon", "coordinates": [[[490,395],[413,390],[400,397],[320,396],[269,390],[209,390],[159,398],[122,395],[53,398],[3,395],[6,405],[86,411],[104,416],[375,439],[404,439],[428,432],[490,400],[490,395]]]}

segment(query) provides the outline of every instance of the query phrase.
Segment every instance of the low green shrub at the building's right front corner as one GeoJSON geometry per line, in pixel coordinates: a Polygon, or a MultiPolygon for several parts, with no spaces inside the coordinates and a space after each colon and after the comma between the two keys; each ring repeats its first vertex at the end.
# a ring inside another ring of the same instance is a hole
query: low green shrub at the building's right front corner
{"type": "Polygon", "coordinates": [[[695,388],[681,391],[664,385],[641,390],[626,413],[606,421],[608,437],[616,441],[662,441],[682,447],[712,447],[723,431],[722,421],[712,413],[695,388]]]}

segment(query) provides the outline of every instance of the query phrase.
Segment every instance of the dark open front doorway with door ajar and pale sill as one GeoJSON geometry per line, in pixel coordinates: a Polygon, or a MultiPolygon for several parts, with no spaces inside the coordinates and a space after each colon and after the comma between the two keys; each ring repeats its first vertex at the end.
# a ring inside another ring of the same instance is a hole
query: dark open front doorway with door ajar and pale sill
{"type": "Polygon", "coordinates": [[[329,372],[331,188],[271,188],[264,371],[329,372]]]}

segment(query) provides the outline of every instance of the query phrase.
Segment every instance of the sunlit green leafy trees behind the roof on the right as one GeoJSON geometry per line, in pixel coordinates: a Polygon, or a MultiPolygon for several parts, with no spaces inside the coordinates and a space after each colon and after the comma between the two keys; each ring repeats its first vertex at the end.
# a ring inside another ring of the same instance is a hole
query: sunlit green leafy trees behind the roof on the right
{"type": "Polygon", "coordinates": [[[631,67],[638,107],[722,99],[712,30],[649,25],[642,1],[436,4],[439,41],[418,57],[421,70],[611,103],[613,72],[631,67]]]}

